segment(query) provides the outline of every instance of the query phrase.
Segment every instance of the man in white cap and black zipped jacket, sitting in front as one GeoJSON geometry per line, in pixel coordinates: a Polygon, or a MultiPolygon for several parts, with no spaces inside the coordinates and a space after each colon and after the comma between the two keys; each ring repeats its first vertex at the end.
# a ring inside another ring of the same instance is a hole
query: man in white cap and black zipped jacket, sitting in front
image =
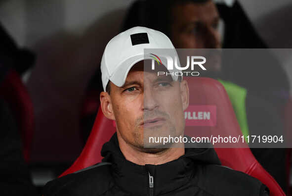
{"type": "Polygon", "coordinates": [[[44,196],[267,196],[258,180],[220,166],[213,148],[145,143],[153,135],[183,136],[189,89],[179,76],[156,74],[165,67],[150,69],[144,49],[174,47],[166,35],[144,27],[108,43],[100,101],[117,133],[102,148],[102,164],[49,182],[44,196]]]}

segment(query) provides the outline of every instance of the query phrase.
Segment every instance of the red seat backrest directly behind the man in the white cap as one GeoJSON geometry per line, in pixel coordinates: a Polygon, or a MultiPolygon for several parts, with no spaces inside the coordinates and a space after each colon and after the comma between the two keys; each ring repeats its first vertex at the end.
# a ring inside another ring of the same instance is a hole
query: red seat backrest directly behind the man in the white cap
{"type": "MultiPolygon", "coordinates": [[[[200,130],[202,131],[200,133],[209,132],[210,134],[220,133],[220,135],[241,136],[240,127],[224,87],[218,81],[210,78],[186,77],[185,79],[190,89],[190,105],[186,112],[209,108],[211,112],[216,113],[213,116],[215,118],[211,117],[210,121],[197,123],[191,122],[188,113],[185,113],[187,118],[185,134],[196,136],[198,134],[196,130],[200,130]]],[[[61,176],[100,162],[102,159],[101,148],[105,142],[110,140],[115,131],[114,121],[107,119],[99,108],[92,131],[81,155],[61,176]]],[[[278,183],[254,158],[247,144],[244,143],[233,148],[221,148],[218,145],[214,145],[214,147],[222,165],[257,178],[270,189],[271,196],[285,196],[278,183]]]]}

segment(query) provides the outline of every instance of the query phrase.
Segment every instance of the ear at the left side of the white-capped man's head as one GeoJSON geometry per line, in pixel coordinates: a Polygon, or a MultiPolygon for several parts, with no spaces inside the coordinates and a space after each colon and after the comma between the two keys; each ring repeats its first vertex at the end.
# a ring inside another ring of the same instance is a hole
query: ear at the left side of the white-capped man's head
{"type": "Polygon", "coordinates": [[[111,96],[107,92],[101,92],[99,98],[101,110],[105,117],[111,120],[116,120],[113,111],[111,96]]]}

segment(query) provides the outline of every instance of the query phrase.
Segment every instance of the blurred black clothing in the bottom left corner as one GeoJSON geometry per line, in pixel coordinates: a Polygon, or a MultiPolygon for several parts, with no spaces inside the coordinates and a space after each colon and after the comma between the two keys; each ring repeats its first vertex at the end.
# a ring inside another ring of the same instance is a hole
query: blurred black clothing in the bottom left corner
{"type": "Polygon", "coordinates": [[[18,129],[7,104],[0,100],[1,196],[35,196],[30,173],[23,159],[18,129]]]}

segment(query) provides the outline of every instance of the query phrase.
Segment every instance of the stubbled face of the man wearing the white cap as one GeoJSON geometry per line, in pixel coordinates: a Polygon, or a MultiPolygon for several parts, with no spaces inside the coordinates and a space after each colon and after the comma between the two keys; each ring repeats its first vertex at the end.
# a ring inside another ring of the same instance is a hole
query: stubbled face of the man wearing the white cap
{"type": "Polygon", "coordinates": [[[148,137],[183,135],[183,110],[188,105],[185,81],[173,81],[169,75],[157,76],[155,71],[144,71],[143,65],[140,61],[131,68],[123,87],[111,83],[110,92],[117,131],[127,144],[139,149],[148,145],[144,143],[148,137]]]}

